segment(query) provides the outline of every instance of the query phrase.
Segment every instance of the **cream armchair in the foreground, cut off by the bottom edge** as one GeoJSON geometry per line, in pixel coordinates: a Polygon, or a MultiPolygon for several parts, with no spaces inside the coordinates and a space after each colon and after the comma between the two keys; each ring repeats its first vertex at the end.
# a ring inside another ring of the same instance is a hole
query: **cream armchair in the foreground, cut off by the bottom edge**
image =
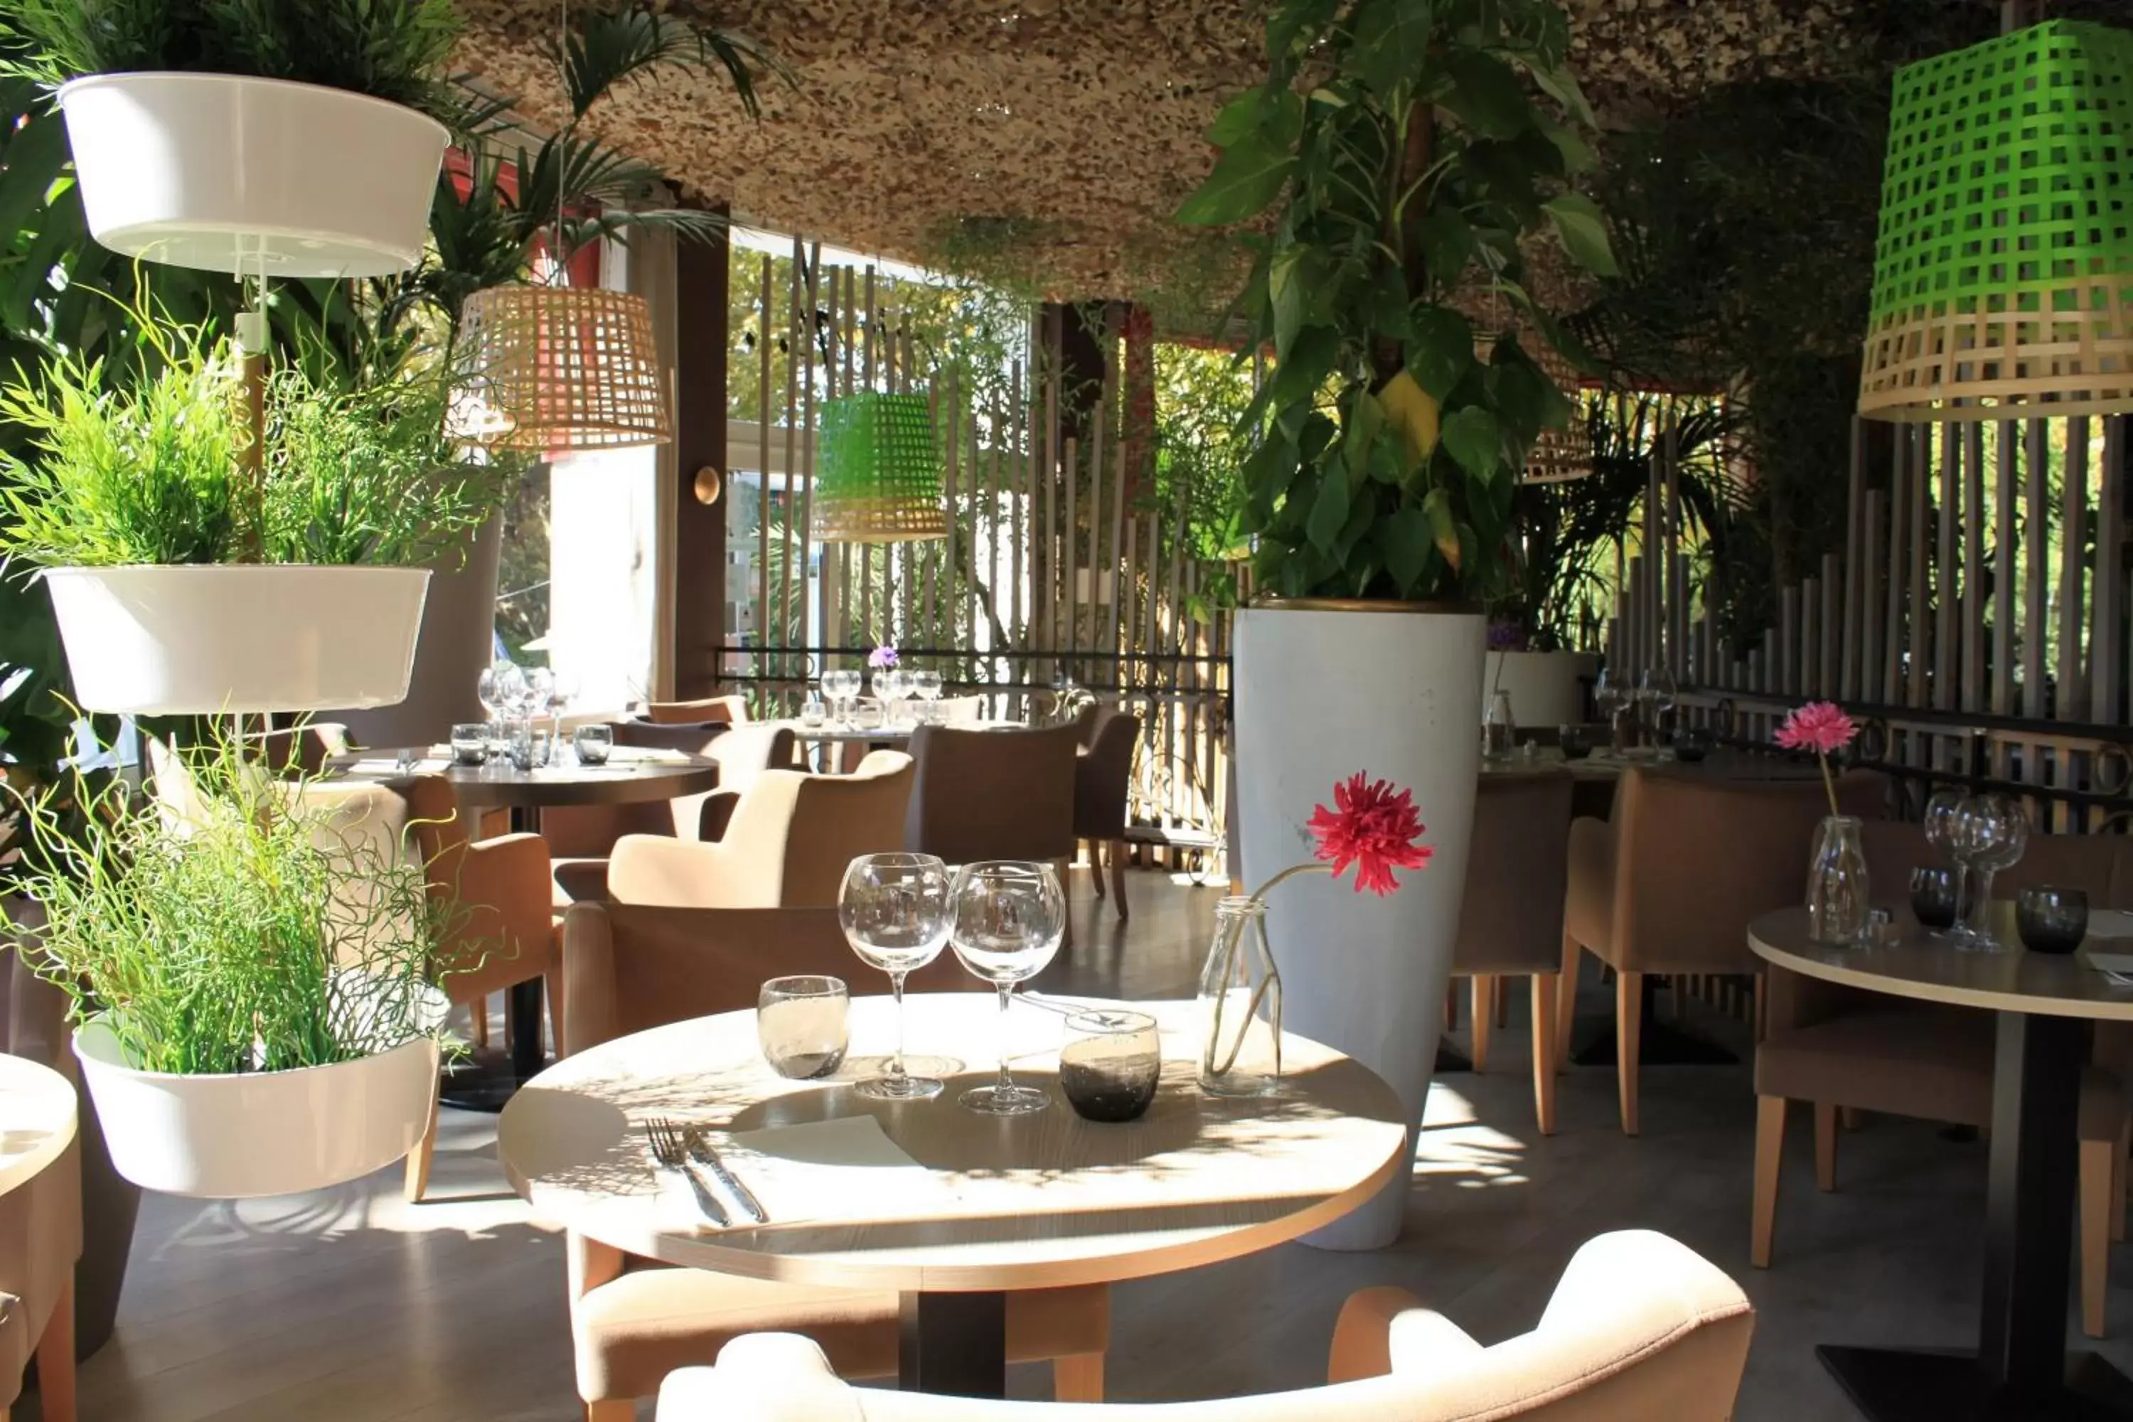
{"type": "Polygon", "coordinates": [[[1401,1290],[1350,1296],[1325,1388],[1156,1407],[860,1390],[806,1339],[757,1335],[668,1377],[659,1422],[1726,1422],[1751,1328],[1732,1279],[1625,1230],[1578,1249],[1540,1326],[1495,1347],[1401,1290]]]}

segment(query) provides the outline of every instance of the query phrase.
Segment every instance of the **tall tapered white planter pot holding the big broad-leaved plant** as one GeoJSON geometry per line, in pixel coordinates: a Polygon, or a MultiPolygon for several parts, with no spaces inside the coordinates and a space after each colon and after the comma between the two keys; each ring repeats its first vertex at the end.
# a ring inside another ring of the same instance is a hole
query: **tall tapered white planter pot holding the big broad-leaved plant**
{"type": "MultiPolygon", "coordinates": [[[[1244,883],[1312,859],[1312,808],[1357,772],[1414,791],[1423,870],[1389,898],[1303,874],[1273,891],[1267,936],[1282,968],[1282,1025],[1384,1077],[1423,1119],[1450,974],[1480,770],[1485,625],[1478,612],[1397,603],[1352,610],[1250,608],[1237,614],[1237,819],[1244,883]]],[[[1344,1219],[1310,1234],[1327,1249],[1399,1237],[1410,1170],[1344,1219]]]]}

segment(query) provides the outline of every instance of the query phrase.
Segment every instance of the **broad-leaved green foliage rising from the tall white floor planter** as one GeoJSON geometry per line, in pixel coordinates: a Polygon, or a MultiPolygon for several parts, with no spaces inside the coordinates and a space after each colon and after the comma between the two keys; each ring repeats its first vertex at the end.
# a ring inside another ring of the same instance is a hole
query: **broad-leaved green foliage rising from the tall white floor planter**
{"type": "Polygon", "coordinates": [[[1576,175],[1591,111],[1555,0],[1280,0],[1267,81],[1177,220],[1258,222],[1239,296],[1273,375],[1246,411],[1241,531],[1263,593],[1487,601],[1514,488],[1570,401],[1517,339],[1476,352],[1478,296],[1583,352],[1527,292],[1521,239],[1610,273],[1576,175]]]}

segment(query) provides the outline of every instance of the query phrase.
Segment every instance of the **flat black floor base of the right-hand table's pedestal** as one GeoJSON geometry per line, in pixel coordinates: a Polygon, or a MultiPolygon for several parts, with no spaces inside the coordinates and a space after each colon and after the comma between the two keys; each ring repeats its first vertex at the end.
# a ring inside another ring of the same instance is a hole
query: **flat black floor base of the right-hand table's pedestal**
{"type": "Polygon", "coordinates": [[[1977,1354],[1837,1347],[1822,1367],[1873,1422],[2124,1422],[2133,1379],[2097,1354],[2069,1354],[2067,1381],[2048,1392],[1999,1386],[1977,1354]]]}

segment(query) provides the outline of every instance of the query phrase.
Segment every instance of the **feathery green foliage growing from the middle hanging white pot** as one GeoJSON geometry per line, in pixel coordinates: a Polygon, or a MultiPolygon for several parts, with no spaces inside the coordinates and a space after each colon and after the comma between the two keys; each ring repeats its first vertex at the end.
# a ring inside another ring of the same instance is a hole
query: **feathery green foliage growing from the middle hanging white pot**
{"type": "MultiPolygon", "coordinates": [[[[151,375],[109,390],[98,360],[55,354],[0,384],[0,554],[11,565],[237,563],[254,518],[241,358],[205,326],[143,328],[151,375]]],[[[356,390],[288,365],[267,382],[267,563],[427,563],[499,505],[508,463],[469,463],[448,435],[442,371],[356,390]]]]}

